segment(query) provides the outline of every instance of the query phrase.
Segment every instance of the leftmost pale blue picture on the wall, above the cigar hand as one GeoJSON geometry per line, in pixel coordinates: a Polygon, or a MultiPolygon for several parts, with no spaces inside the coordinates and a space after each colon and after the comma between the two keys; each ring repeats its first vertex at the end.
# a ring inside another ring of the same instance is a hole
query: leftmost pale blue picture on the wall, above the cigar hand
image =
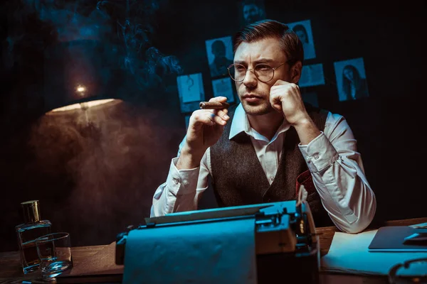
{"type": "Polygon", "coordinates": [[[192,112],[199,109],[199,103],[204,101],[204,87],[201,73],[176,77],[178,84],[181,112],[192,112]]]}

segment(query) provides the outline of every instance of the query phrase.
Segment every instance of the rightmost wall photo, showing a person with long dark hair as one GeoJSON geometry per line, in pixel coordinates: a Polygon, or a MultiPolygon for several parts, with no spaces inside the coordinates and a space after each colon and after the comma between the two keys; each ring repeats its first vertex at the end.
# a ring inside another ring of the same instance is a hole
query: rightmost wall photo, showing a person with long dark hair
{"type": "Polygon", "coordinates": [[[369,97],[363,58],[334,62],[339,101],[369,97]]]}

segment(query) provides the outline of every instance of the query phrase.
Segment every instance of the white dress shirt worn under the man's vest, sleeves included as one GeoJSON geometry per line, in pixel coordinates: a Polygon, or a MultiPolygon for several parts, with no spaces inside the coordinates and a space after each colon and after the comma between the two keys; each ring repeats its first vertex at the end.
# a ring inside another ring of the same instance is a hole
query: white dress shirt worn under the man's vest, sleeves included
{"type": "MultiPolygon", "coordinates": [[[[229,138],[242,131],[251,137],[253,148],[271,184],[289,128],[290,125],[284,121],[269,141],[251,128],[239,104],[231,121],[229,138]]],[[[184,141],[185,138],[179,145],[178,157],[184,141]]],[[[307,145],[299,145],[323,207],[337,228],[349,233],[365,229],[376,210],[375,195],[364,175],[356,143],[344,117],[329,112],[324,131],[307,145]]],[[[166,182],[154,193],[151,217],[196,210],[201,194],[208,187],[208,175],[212,175],[210,148],[204,153],[198,168],[178,170],[178,157],[172,159],[166,182]]]]}

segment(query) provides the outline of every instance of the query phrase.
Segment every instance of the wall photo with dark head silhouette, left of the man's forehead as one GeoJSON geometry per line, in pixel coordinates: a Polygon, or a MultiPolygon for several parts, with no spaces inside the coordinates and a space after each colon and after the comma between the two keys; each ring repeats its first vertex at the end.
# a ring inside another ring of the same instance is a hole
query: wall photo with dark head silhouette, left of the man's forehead
{"type": "Polygon", "coordinates": [[[211,77],[228,76],[227,67],[233,64],[233,44],[231,36],[206,40],[211,77]]]}

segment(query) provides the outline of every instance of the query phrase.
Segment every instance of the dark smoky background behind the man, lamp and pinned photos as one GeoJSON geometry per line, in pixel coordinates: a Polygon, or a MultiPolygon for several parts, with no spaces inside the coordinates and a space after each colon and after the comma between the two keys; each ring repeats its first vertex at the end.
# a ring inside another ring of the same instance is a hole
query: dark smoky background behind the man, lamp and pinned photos
{"type": "MultiPolygon", "coordinates": [[[[43,219],[70,232],[73,246],[110,244],[149,216],[184,137],[176,75],[201,72],[212,97],[205,40],[236,32],[238,2],[37,2],[0,4],[0,251],[18,249],[26,200],[40,200],[43,219]],[[76,82],[122,102],[45,114],[76,99],[76,82]]],[[[352,127],[375,222],[426,217],[425,1],[265,1],[265,13],[311,20],[317,57],[305,63],[322,63],[326,84],[302,94],[316,92],[352,127]],[[361,57],[369,97],[339,102],[333,63],[361,57]]]]}

